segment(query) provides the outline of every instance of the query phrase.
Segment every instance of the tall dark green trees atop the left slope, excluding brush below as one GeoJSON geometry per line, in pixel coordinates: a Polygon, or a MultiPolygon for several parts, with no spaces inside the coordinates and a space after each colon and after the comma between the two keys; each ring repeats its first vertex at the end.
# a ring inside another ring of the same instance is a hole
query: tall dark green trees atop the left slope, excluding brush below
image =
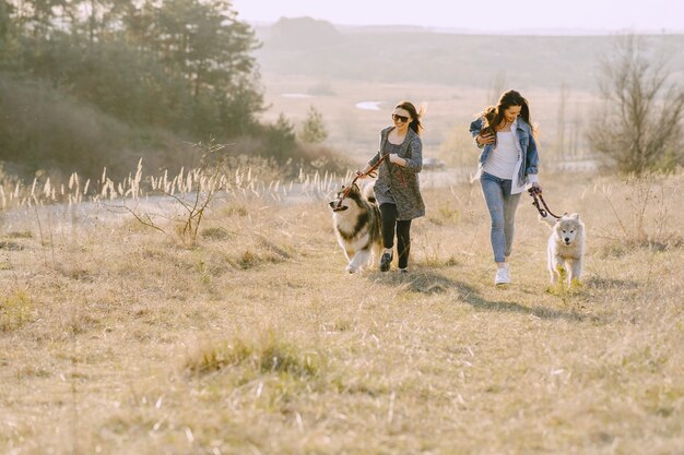
{"type": "Polygon", "coordinates": [[[226,0],[0,0],[3,72],[192,135],[255,125],[257,46],[226,0]]]}

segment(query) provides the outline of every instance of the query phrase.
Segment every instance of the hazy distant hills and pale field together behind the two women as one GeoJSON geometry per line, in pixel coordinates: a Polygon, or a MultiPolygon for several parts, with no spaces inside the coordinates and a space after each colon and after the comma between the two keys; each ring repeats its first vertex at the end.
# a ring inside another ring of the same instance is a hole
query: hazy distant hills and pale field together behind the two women
{"type": "MultiPolygon", "coordinates": [[[[259,26],[257,36],[263,43],[256,57],[269,106],[264,119],[282,112],[299,122],[315,106],[330,131],[328,143],[363,161],[375,152],[393,104],[424,100],[426,156],[455,166],[470,163],[473,154],[468,123],[506,88],[530,100],[542,159],[586,156],[583,132],[599,101],[600,58],[611,55],[616,38],[456,35],[342,27],[306,17],[259,26]],[[380,101],[380,110],[355,108],[361,101],[380,101]]],[[[684,35],[644,36],[642,44],[653,61],[668,62],[671,82],[684,82],[684,35]]]]}

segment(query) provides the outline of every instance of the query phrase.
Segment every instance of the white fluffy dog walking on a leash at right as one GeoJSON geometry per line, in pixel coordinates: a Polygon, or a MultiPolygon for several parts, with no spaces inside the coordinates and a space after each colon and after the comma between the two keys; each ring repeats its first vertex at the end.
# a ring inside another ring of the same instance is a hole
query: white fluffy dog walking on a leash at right
{"type": "Polygon", "coordinates": [[[580,280],[585,256],[585,225],[579,219],[579,214],[564,214],[556,220],[549,237],[546,254],[552,284],[558,283],[562,274],[567,275],[568,284],[580,280]]]}

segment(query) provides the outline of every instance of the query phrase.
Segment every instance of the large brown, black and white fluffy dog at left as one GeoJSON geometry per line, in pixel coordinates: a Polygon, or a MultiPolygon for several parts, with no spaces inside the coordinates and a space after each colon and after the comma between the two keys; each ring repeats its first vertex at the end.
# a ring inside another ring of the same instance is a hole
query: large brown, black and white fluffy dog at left
{"type": "Polygon", "coordinates": [[[372,185],[365,185],[362,192],[354,183],[346,196],[345,190],[346,188],[342,187],[328,205],[332,209],[338,243],[346,256],[345,270],[349,273],[356,273],[373,265],[375,259],[380,259],[382,252],[380,211],[375,204],[372,185]]]}

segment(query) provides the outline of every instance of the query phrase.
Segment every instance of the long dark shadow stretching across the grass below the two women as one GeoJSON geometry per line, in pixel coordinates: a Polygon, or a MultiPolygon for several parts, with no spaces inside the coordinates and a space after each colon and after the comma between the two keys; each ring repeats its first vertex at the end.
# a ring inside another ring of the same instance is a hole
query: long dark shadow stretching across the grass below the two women
{"type": "Polygon", "coordinates": [[[429,270],[421,270],[409,274],[401,274],[397,271],[388,273],[373,272],[368,275],[368,278],[390,286],[403,286],[409,291],[426,296],[456,290],[459,301],[463,301],[477,310],[530,314],[543,320],[585,322],[595,319],[593,315],[582,314],[575,310],[564,311],[543,307],[534,308],[515,301],[487,300],[475,287],[429,270]]]}

